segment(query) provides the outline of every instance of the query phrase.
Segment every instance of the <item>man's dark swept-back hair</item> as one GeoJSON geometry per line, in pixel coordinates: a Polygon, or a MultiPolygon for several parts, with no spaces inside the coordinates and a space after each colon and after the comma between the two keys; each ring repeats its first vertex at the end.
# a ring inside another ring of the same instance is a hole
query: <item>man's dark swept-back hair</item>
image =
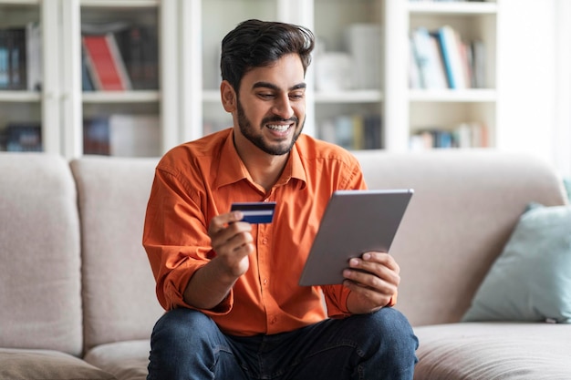
{"type": "Polygon", "coordinates": [[[222,78],[238,92],[245,73],[254,67],[269,66],[287,54],[297,54],[306,73],[314,40],[313,33],[304,26],[246,20],[223,38],[222,78]]]}

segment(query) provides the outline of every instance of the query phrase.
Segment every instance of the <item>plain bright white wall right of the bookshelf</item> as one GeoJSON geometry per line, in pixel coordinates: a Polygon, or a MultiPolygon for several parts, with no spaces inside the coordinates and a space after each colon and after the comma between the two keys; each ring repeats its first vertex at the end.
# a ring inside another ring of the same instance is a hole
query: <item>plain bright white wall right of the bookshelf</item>
{"type": "Polygon", "coordinates": [[[498,48],[498,146],[531,152],[569,175],[571,18],[568,0],[503,0],[498,48]],[[562,10],[566,8],[566,14],[562,10]],[[560,29],[560,27],[562,27],[560,29]],[[565,38],[561,38],[565,36],[565,38]],[[506,52],[509,52],[507,54],[506,52]],[[563,80],[562,80],[563,79],[563,80]],[[566,101],[565,100],[566,97],[566,101]]]}

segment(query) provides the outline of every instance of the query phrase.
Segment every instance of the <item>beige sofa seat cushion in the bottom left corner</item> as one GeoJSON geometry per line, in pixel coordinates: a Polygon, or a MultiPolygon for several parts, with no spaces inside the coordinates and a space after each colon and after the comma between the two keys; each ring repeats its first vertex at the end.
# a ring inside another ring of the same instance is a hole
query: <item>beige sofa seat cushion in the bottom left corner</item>
{"type": "Polygon", "coordinates": [[[0,348],[0,378],[10,380],[111,380],[113,375],[70,354],[0,348]]]}

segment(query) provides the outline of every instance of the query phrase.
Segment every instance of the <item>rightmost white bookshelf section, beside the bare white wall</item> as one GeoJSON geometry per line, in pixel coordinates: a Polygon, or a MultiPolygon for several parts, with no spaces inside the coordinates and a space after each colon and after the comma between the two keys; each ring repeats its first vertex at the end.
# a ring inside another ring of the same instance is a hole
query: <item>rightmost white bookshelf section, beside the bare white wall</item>
{"type": "MultiPolygon", "coordinates": [[[[499,1],[499,0],[498,0],[499,1]]],[[[493,2],[413,2],[386,0],[385,124],[386,149],[409,150],[410,136],[423,130],[451,130],[466,122],[487,127],[488,146],[495,147],[497,131],[496,87],[497,21],[493,2]],[[408,36],[418,27],[435,31],[452,26],[462,38],[478,39],[485,46],[485,87],[466,89],[410,88],[408,36]]]]}

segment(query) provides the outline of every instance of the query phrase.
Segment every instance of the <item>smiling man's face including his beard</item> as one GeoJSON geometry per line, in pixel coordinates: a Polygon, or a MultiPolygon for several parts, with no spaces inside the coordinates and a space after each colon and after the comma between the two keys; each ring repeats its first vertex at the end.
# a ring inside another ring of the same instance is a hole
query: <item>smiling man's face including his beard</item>
{"type": "Polygon", "coordinates": [[[306,120],[306,83],[299,57],[283,56],[273,66],[247,72],[236,111],[245,139],[267,154],[288,153],[306,120]]]}

